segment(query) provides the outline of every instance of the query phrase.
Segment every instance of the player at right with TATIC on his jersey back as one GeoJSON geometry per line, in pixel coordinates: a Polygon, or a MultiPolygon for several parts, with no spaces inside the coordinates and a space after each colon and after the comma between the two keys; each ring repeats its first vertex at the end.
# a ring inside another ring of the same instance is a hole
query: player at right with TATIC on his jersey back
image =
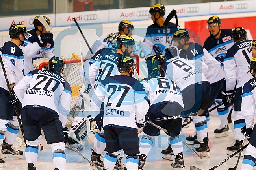
{"type": "Polygon", "coordinates": [[[223,62],[226,89],[222,91],[225,106],[234,102],[234,137],[236,143],[227,147],[228,155],[232,155],[242,147],[244,136],[241,133],[241,128],[245,126],[245,117],[241,113],[242,86],[252,79],[252,75],[248,71],[249,62],[252,59],[252,53],[248,47],[252,41],[246,40],[246,31],[243,27],[234,28],[232,38],[236,43],[226,51],[223,62]]]}

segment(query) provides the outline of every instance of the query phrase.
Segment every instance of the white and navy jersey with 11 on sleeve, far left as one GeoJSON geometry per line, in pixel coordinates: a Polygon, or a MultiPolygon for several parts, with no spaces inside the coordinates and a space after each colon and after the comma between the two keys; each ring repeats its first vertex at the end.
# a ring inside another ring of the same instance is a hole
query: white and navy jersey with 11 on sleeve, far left
{"type": "MultiPolygon", "coordinates": [[[[8,41],[0,47],[0,55],[9,84],[17,84],[23,79],[24,73],[24,54],[22,50],[13,42],[8,41]]],[[[0,89],[9,93],[2,67],[0,67],[0,89]]]]}

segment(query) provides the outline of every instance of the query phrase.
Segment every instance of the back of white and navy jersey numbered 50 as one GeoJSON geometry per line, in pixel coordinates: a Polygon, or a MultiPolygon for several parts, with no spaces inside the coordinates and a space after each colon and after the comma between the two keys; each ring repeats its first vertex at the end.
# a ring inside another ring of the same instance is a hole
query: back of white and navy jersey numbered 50
{"type": "Polygon", "coordinates": [[[97,75],[94,83],[95,89],[106,77],[120,74],[117,69],[117,59],[119,57],[122,57],[119,53],[108,53],[101,58],[100,62],[99,60],[96,61],[96,67],[99,68],[99,71],[95,72],[97,75]]]}

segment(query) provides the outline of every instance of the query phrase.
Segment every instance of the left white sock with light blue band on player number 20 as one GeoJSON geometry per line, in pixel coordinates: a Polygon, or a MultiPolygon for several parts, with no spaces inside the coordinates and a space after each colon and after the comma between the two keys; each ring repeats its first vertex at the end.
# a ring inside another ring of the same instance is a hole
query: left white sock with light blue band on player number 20
{"type": "Polygon", "coordinates": [[[25,157],[26,157],[27,165],[29,163],[33,163],[33,165],[35,166],[37,163],[37,157],[38,157],[38,146],[28,145],[25,149],[25,157]]]}

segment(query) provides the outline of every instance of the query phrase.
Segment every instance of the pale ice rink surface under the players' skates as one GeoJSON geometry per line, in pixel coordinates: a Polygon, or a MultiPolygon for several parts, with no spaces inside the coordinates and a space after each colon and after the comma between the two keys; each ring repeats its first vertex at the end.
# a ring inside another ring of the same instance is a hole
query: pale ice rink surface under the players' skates
{"type": "MultiPolygon", "coordinates": [[[[233,119],[232,119],[233,120],[233,119]]],[[[209,146],[210,146],[210,158],[200,159],[197,155],[195,155],[191,150],[189,150],[185,145],[183,145],[184,152],[184,162],[185,162],[185,170],[189,170],[191,165],[196,166],[200,169],[210,169],[213,166],[217,165],[221,161],[223,161],[228,155],[226,154],[226,147],[232,146],[234,143],[234,133],[232,130],[229,130],[229,135],[226,137],[215,138],[214,130],[218,128],[220,125],[220,120],[218,116],[210,116],[210,128],[208,130],[209,137],[209,146]]],[[[185,141],[188,135],[193,134],[195,128],[193,123],[189,124],[188,128],[182,129],[182,139],[185,141]]],[[[139,137],[142,137],[142,133],[140,133],[139,137]]],[[[248,142],[246,141],[245,144],[248,142]]],[[[43,151],[39,151],[38,159],[37,159],[37,170],[54,170],[54,166],[52,163],[52,150],[49,145],[46,144],[45,138],[42,138],[42,145],[44,146],[43,151]]],[[[194,149],[193,145],[189,145],[194,149]]],[[[167,147],[167,135],[164,132],[161,133],[159,137],[155,137],[154,145],[150,150],[148,157],[146,159],[144,170],[172,170],[171,163],[173,161],[168,161],[162,159],[161,150],[167,147]]],[[[91,148],[93,148],[93,143],[89,143],[85,150],[79,150],[83,155],[85,155],[88,159],[91,158],[91,148]]],[[[25,148],[21,149],[24,152],[22,159],[6,159],[6,163],[4,167],[1,167],[4,170],[13,170],[13,169],[27,169],[26,159],[25,159],[25,148]]],[[[245,153],[245,151],[243,151],[245,153]]],[[[66,149],[67,156],[67,170],[88,170],[89,163],[83,159],[76,152],[66,149]]],[[[125,157],[123,158],[125,161],[125,157]]],[[[240,158],[239,165],[237,166],[237,170],[241,169],[241,163],[243,158],[240,158]]],[[[219,166],[217,170],[227,170],[228,168],[233,168],[236,166],[237,157],[232,157],[223,165],[219,166]]]]}

